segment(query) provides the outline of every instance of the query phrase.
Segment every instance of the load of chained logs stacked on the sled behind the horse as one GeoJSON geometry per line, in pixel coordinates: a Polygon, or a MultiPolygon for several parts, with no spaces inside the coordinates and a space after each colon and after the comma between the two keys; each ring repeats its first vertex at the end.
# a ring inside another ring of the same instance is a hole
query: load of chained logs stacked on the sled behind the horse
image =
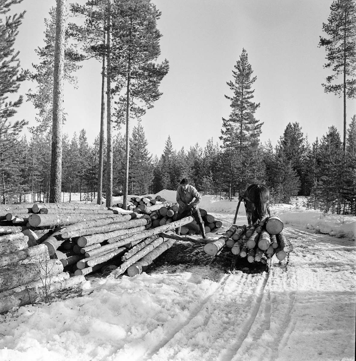
{"type": "Polygon", "coordinates": [[[278,216],[265,216],[249,226],[233,225],[218,240],[207,243],[204,251],[215,256],[226,246],[235,257],[247,257],[250,263],[266,263],[273,255],[282,261],[293,251],[282,230],[283,222],[278,216]]]}

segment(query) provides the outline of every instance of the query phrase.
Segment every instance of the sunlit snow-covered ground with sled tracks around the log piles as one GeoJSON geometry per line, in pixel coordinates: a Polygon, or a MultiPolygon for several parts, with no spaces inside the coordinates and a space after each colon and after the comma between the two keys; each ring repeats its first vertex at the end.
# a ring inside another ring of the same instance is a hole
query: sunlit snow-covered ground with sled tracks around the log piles
{"type": "MultiPolygon", "coordinates": [[[[233,203],[205,196],[201,207],[227,227],[233,203]]],[[[300,207],[272,212],[294,245],[287,268],[274,257],[270,273],[230,273],[226,253],[196,246],[191,262],[157,262],[133,278],[93,275],[80,296],[0,316],[0,360],[354,360],[355,217],[337,225],[340,216],[300,207]],[[328,222],[352,233],[324,234],[328,222]]]]}

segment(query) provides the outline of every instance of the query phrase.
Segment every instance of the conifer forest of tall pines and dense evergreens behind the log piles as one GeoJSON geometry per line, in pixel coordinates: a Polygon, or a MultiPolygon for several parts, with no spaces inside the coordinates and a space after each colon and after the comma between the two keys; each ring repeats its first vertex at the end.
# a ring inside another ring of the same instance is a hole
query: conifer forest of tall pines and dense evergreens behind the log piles
{"type": "MultiPolygon", "coordinates": [[[[26,14],[14,15],[12,5],[18,2],[0,0],[3,204],[48,202],[50,199],[56,9],[52,8],[45,19],[44,46],[36,49],[37,64],[24,70],[21,54],[16,50],[16,37],[26,14]],[[33,86],[20,93],[20,84],[25,79],[31,79],[33,86]],[[36,122],[32,121],[31,127],[30,119],[15,120],[17,109],[24,101],[32,102],[37,110],[36,122]]],[[[334,16],[334,21],[324,23],[320,29],[320,34],[324,30],[328,37],[320,37],[319,46],[325,47],[329,56],[330,63],[325,67],[334,67],[334,73],[339,75],[337,81],[341,82],[330,85],[335,79],[327,78],[328,84],[322,84],[325,92],[334,92],[346,101],[355,99],[353,21],[356,15],[355,3],[343,1],[342,6],[344,3],[348,3],[349,27],[353,26],[346,48],[335,50],[335,42],[330,40],[337,37],[339,31],[335,29],[338,12],[346,11],[337,8],[331,9],[330,17],[334,16]],[[347,55],[347,60],[343,54],[347,55]]],[[[159,84],[169,72],[167,60],[156,62],[161,36],[156,27],[159,10],[149,0],[92,0],[86,5],[72,3],[67,6],[64,80],[75,87],[76,71],[85,58],[94,57],[101,62],[102,129],[107,127],[107,117],[110,117],[111,127],[120,131],[112,135],[110,130],[105,139],[102,131],[93,143],[88,142],[86,129],[79,134],[63,134],[61,192],[80,193],[80,199],[87,201],[98,197],[98,192],[106,199],[123,195],[125,191],[126,195],[144,195],[162,189],[175,190],[186,177],[203,195],[233,199],[249,184],[261,182],[270,188],[273,203],[290,203],[291,197],[305,196],[310,209],[356,214],[355,114],[345,110],[344,129],[331,126],[316,139],[308,139],[298,122],[290,122],[281,130],[277,144],[262,143],[260,136],[267,125],[263,119],[255,118],[255,111],[263,106],[254,97],[258,74],[253,72],[253,64],[249,62],[249,49],[242,49],[231,79],[226,79],[226,92],[221,94],[231,106],[230,116],[222,119],[221,134],[212,134],[206,144],[196,143],[189,149],[174,149],[168,136],[162,140],[165,141],[163,153],[150,154],[140,119],[159,99],[159,84]],[[79,15],[81,22],[76,22],[79,15]],[[106,110],[108,107],[110,111],[106,110]],[[131,134],[125,132],[129,122],[131,134]]],[[[344,30],[346,34],[348,29],[344,30]]]]}

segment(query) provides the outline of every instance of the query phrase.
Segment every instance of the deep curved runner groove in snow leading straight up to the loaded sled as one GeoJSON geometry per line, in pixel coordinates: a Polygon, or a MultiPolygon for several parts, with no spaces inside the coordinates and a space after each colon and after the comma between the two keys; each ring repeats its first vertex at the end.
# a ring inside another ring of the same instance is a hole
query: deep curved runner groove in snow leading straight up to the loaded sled
{"type": "MultiPolygon", "coordinates": [[[[243,345],[243,343],[245,342],[246,338],[248,337],[250,331],[252,331],[252,329],[253,329],[255,319],[257,317],[257,314],[258,314],[259,309],[262,304],[262,299],[266,298],[266,296],[264,295],[264,288],[266,287],[268,278],[269,278],[269,273],[264,272],[263,278],[261,280],[262,282],[258,285],[257,289],[255,290],[254,306],[253,306],[252,310],[250,311],[250,315],[249,315],[248,319],[244,322],[244,325],[242,326],[242,329],[241,329],[239,335],[236,336],[237,341],[234,342],[227,349],[223,350],[223,352],[217,358],[217,361],[232,361],[236,357],[237,357],[236,360],[240,360],[241,356],[243,356],[243,355],[240,355],[240,354],[237,355],[237,354],[239,353],[239,350],[240,350],[241,346],[243,345]]],[[[269,327],[270,314],[271,314],[271,309],[269,308],[269,310],[268,310],[268,306],[267,306],[267,319],[266,319],[265,325],[268,325],[268,327],[269,327]]],[[[258,325],[257,325],[257,329],[258,329],[258,325]]],[[[261,335],[262,335],[262,333],[264,332],[265,329],[266,328],[263,327],[263,330],[258,331],[258,334],[261,333],[261,335]]],[[[258,337],[258,334],[256,334],[256,338],[258,337]]]]}

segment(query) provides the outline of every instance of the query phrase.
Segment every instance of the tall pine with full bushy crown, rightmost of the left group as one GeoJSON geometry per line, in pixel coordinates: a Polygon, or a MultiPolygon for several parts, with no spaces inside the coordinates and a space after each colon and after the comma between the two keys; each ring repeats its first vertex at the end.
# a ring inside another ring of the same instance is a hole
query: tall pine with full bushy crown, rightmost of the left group
{"type": "MultiPolygon", "coordinates": [[[[126,206],[129,177],[129,121],[130,117],[140,117],[144,109],[137,102],[152,108],[153,102],[162,93],[158,87],[168,73],[168,61],[155,61],[160,55],[161,34],[156,27],[160,12],[150,0],[114,0],[117,6],[117,23],[113,24],[113,38],[120,39],[120,55],[113,66],[125,78],[126,94],[117,102],[117,116],[126,123],[126,176],[124,206],[126,206]]],[[[119,84],[116,91],[121,91],[119,84]]]]}

